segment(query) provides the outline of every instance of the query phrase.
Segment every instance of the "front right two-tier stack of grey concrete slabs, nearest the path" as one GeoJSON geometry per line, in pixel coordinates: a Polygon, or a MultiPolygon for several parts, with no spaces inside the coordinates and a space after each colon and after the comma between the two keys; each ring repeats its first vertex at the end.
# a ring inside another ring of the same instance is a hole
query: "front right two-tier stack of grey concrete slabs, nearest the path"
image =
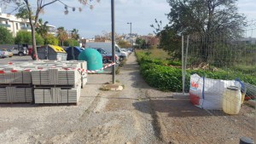
{"type": "Polygon", "coordinates": [[[32,71],[35,103],[77,103],[81,90],[80,78],[78,69],[73,68],[32,71]]]}

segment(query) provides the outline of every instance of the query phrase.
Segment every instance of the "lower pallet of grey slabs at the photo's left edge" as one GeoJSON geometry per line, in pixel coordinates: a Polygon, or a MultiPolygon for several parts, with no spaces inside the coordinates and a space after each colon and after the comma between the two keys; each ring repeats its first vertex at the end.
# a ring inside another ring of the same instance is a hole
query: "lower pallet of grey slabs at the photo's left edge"
{"type": "Polygon", "coordinates": [[[0,103],[32,102],[32,88],[6,87],[0,88],[0,103]]]}

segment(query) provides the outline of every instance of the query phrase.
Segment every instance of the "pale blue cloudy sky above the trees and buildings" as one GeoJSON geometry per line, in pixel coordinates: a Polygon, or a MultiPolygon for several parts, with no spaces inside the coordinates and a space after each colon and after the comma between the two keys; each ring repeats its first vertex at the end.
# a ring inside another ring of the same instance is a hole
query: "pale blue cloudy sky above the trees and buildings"
{"type": "MultiPolygon", "coordinates": [[[[61,1],[72,7],[80,5],[78,0],[61,1]]],[[[94,0],[90,3],[94,5],[94,9],[90,9],[89,6],[83,7],[82,12],[79,12],[78,9],[72,12],[72,9],[69,9],[67,15],[63,12],[64,5],[57,2],[47,6],[44,9],[45,13],[41,14],[41,18],[56,27],[64,26],[67,30],[76,28],[81,37],[91,38],[101,35],[102,32],[111,32],[110,2],[111,0],[101,0],[100,3],[97,3],[94,0]]],[[[247,15],[247,20],[256,20],[255,0],[239,0],[237,6],[240,13],[247,15]]],[[[165,26],[168,23],[166,14],[170,12],[170,9],[166,0],[115,0],[115,30],[119,34],[130,33],[130,25],[127,22],[131,22],[132,32],[140,35],[153,33],[153,28],[150,25],[154,24],[154,19],[162,20],[163,26],[165,26]]],[[[4,12],[4,9],[2,10],[4,12]]],[[[5,12],[9,11],[6,9],[5,12]]],[[[248,27],[248,29],[254,27],[256,26],[248,27]]],[[[253,32],[253,35],[255,34],[256,32],[253,32]]]]}

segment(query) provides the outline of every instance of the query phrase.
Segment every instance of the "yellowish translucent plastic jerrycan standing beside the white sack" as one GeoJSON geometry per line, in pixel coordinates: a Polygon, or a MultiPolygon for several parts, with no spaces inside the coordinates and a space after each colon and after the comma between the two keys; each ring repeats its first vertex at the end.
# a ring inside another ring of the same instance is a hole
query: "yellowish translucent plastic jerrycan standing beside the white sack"
{"type": "Polygon", "coordinates": [[[241,91],[236,86],[230,86],[224,90],[223,111],[227,114],[238,114],[241,109],[241,91]]]}

